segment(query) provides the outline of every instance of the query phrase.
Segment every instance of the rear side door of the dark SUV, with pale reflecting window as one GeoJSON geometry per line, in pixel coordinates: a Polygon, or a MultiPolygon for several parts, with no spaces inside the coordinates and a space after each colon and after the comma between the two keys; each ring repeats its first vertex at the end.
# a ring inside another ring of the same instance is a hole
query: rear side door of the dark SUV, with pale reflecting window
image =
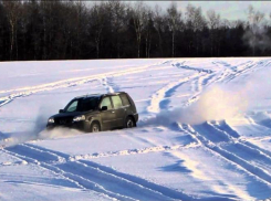
{"type": "Polygon", "coordinates": [[[123,103],[122,99],[118,95],[113,95],[111,96],[112,103],[115,109],[116,114],[116,125],[117,127],[123,127],[124,126],[124,118],[125,118],[125,109],[123,108],[123,103]]]}

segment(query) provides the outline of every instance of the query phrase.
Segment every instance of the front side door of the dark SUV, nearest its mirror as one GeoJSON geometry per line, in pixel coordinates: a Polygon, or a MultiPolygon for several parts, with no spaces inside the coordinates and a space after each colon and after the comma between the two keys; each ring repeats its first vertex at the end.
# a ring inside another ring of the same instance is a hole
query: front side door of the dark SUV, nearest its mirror
{"type": "Polygon", "coordinates": [[[102,108],[103,106],[107,106],[107,110],[101,110],[101,121],[102,121],[102,127],[103,130],[106,129],[112,129],[114,127],[116,127],[116,113],[115,109],[112,106],[112,102],[110,96],[106,96],[102,99],[101,104],[100,104],[100,108],[102,108]]]}

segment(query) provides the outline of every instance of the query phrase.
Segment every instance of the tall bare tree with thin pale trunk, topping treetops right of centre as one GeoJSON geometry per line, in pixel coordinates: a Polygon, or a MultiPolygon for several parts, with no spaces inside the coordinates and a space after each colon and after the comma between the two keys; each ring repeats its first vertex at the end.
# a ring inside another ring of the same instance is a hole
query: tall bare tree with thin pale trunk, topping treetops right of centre
{"type": "Polygon", "coordinates": [[[177,3],[171,2],[170,7],[167,9],[167,21],[168,21],[169,30],[171,31],[171,40],[173,40],[171,56],[173,57],[175,56],[175,35],[180,24],[180,17],[181,17],[181,12],[178,12],[177,10],[177,3]]]}

